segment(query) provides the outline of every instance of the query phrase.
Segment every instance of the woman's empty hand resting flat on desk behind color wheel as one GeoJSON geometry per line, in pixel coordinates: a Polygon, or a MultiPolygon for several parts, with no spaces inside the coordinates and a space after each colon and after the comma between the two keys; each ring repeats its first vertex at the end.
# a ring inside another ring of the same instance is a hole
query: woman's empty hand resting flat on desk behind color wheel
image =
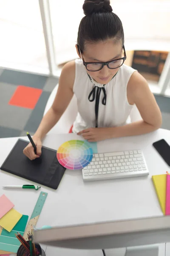
{"type": "Polygon", "coordinates": [[[111,138],[111,128],[88,128],[78,132],[85,140],[89,142],[96,142],[99,140],[106,140],[111,138]]]}

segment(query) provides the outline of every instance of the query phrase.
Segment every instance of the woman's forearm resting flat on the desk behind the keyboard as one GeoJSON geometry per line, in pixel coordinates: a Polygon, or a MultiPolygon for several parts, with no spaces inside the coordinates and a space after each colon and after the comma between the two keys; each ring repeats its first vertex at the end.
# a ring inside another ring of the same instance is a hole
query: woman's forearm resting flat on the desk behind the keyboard
{"type": "Polygon", "coordinates": [[[151,131],[157,130],[160,127],[161,124],[154,126],[144,122],[144,120],[140,120],[124,126],[111,128],[111,138],[147,134],[151,131]]]}

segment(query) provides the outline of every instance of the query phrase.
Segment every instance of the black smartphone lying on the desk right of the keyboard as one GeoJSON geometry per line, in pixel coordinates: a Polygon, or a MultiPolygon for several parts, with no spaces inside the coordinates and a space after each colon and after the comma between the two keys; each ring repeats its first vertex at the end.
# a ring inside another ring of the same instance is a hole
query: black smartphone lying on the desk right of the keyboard
{"type": "Polygon", "coordinates": [[[158,151],[164,161],[170,166],[170,145],[162,139],[153,143],[154,148],[158,151]]]}

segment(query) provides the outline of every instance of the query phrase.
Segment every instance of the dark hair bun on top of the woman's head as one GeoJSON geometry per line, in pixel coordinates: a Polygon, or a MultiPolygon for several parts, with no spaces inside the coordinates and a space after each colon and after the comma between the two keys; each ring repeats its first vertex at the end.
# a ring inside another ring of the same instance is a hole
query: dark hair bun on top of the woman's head
{"type": "Polygon", "coordinates": [[[96,12],[112,12],[110,0],[85,0],[82,9],[86,16],[96,12]]]}

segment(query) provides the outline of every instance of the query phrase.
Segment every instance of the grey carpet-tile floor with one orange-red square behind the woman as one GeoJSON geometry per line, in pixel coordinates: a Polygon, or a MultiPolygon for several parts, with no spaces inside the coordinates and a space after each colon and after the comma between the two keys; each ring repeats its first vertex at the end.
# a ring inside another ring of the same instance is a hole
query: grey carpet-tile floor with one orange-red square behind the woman
{"type": "MultiPolygon", "coordinates": [[[[0,69],[0,138],[31,135],[58,79],[0,69]]],[[[162,112],[162,128],[170,130],[170,97],[155,95],[162,112]]]]}

